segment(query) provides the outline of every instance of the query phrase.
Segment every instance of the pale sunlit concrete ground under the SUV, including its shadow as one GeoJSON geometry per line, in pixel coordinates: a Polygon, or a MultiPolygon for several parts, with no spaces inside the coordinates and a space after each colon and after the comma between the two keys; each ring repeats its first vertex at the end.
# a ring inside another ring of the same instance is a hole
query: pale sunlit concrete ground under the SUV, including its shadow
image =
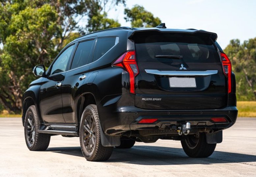
{"type": "Polygon", "coordinates": [[[256,118],[238,118],[209,158],[189,158],[180,142],[158,140],[89,162],[77,137],[53,136],[46,151],[29,151],[21,119],[0,118],[0,176],[256,176],[255,125],[256,118]]]}

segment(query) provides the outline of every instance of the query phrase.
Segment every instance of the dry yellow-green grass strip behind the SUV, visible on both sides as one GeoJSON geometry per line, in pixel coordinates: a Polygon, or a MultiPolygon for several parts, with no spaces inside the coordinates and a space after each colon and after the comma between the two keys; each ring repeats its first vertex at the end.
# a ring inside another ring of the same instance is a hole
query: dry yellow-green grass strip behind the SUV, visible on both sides
{"type": "MultiPolygon", "coordinates": [[[[238,117],[256,117],[256,101],[238,101],[238,117]]],[[[2,111],[1,117],[19,117],[21,114],[9,114],[8,111],[2,111]]]]}

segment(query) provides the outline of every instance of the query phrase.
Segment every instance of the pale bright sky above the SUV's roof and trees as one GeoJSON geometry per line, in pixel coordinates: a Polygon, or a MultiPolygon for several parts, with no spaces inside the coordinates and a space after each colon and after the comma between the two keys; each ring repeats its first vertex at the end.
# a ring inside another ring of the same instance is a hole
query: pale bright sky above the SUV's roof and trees
{"type": "MultiPolygon", "coordinates": [[[[206,30],[217,33],[217,42],[224,49],[231,39],[241,42],[256,37],[256,0],[127,0],[126,8],[142,5],[159,17],[167,28],[206,30]]],[[[124,19],[124,7],[108,12],[121,26],[130,26],[124,19]]]]}

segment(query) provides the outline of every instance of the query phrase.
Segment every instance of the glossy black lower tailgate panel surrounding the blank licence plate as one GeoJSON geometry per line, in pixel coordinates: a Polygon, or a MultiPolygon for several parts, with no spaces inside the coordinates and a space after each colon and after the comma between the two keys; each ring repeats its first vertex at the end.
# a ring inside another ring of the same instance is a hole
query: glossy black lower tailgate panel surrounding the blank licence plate
{"type": "Polygon", "coordinates": [[[209,76],[196,76],[196,88],[170,88],[169,77],[148,74],[145,69],[179,71],[181,62],[138,62],[135,106],[143,109],[218,109],[227,106],[226,77],[221,63],[184,63],[188,71],[217,70],[209,76]],[[161,101],[145,101],[156,98],[161,101]]]}

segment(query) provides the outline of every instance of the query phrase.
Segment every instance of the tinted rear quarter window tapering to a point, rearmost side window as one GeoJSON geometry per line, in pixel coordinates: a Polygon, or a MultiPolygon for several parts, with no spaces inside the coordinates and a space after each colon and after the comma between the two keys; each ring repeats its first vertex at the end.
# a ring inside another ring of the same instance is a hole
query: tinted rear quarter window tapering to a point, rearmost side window
{"type": "Polygon", "coordinates": [[[116,42],[116,37],[104,37],[98,38],[97,43],[94,50],[93,61],[99,59],[102,55],[107,53],[109,49],[111,49],[116,42]]]}

